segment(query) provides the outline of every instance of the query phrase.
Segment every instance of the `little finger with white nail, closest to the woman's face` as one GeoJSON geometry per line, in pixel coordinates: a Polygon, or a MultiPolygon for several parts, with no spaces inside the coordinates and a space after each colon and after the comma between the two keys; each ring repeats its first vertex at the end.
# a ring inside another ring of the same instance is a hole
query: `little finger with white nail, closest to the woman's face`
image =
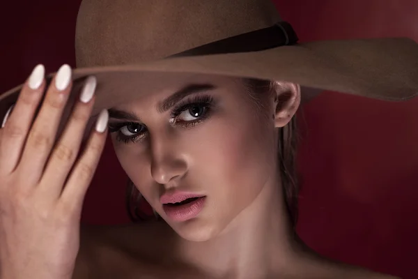
{"type": "Polygon", "coordinates": [[[68,182],[63,189],[61,195],[61,203],[65,204],[65,208],[71,210],[82,209],[84,195],[88,186],[93,179],[93,174],[98,166],[100,156],[103,151],[104,142],[106,141],[107,121],[109,114],[107,110],[102,110],[98,117],[91,137],[88,139],[86,148],[82,156],[77,161],[68,182]]]}

